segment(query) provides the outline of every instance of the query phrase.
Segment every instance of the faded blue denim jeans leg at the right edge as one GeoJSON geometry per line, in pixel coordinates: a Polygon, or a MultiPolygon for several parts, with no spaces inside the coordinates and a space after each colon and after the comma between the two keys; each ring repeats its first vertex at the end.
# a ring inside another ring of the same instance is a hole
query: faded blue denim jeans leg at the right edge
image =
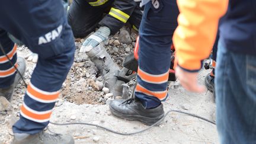
{"type": "Polygon", "coordinates": [[[215,88],[219,142],[255,143],[256,56],[232,52],[220,40],[217,62],[215,88]]]}

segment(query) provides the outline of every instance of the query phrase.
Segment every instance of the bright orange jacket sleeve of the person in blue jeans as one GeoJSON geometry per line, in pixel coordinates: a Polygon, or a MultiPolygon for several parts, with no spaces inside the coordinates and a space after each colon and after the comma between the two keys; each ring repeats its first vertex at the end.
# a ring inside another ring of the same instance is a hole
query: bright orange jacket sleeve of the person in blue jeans
{"type": "Polygon", "coordinates": [[[199,71],[215,41],[219,18],[228,0],[177,0],[180,15],[173,42],[175,59],[187,71],[199,71]]]}

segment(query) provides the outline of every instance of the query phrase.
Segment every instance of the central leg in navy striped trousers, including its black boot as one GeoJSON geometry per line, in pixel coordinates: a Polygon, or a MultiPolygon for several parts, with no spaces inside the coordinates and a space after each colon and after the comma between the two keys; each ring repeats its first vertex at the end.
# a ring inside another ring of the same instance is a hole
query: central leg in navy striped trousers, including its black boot
{"type": "MultiPolygon", "coordinates": [[[[157,1],[159,2],[159,1],[157,1]]],[[[161,1],[159,11],[145,5],[139,28],[139,68],[135,100],[114,100],[111,112],[127,120],[153,124],[164,116],[161,101],[167,96],[168,70],[171,64],[172,34],[177,27],[176,1],[161,1]]]]}

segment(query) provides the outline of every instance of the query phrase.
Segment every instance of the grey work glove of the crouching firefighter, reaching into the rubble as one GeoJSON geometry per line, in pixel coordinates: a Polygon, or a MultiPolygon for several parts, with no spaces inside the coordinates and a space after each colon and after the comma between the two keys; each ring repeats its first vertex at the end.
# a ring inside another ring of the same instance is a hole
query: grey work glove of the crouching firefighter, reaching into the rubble
{"type": "Polygon", "coordinates": [[[101,41],[106,40],[109,35],[110,35],[110,28],[105,27],[105,26],[100,27],[97,31],[95,31],[94,34],[89,36],[84,41],[79,52],[80,53],[89,52],[91,49],[98,46],[98,44],[100,44],[101,41]]]}

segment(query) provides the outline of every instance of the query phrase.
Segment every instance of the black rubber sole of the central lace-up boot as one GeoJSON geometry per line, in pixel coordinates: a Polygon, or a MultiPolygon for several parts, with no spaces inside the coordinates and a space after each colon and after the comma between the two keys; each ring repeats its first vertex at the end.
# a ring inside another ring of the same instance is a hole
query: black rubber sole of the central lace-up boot
{"type": "Polygon", "coordinates": [[[151,126],[152,124],[156,123],[158,120],[162,119],[162,117],[164,117],[164,114],[161,114],[161,116],[154,117],[154,118],[144,117],[140,115],[122,114],[114,110],[111,106],[110,106],[110,111],[114,114],[114,116],[120,117],[121,119],[130,120],[130,121],[137,120],[148,126],[151,126]]]}

